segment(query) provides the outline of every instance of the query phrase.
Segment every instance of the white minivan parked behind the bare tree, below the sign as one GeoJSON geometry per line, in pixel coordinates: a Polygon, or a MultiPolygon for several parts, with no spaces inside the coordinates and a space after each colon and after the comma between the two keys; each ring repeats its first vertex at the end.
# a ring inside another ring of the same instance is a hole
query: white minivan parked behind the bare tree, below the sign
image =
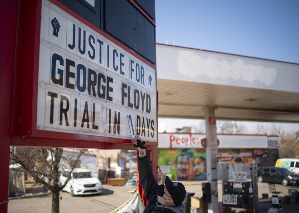
{"type": "MultiPolygon", "coordinates": [[[[68,169],[61,172],[59,184],[64,184],[69,172],[68,169]]],[[[69,192],[71,196],[100,194],[102,193],[102,184],[88,169],[75,168],[71,174],[71,179],[62,190],[69,192]]]]}

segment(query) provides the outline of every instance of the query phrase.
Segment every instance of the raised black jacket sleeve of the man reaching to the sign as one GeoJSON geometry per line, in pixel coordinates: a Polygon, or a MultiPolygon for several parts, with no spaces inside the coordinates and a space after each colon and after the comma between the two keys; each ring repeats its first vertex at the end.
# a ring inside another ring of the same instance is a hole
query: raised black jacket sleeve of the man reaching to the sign
{"type": "Polygon", "coordinates": [[[150,200],[153,196],[157,196],[156,188],[159,185],[154,178],[153,169],[148,156],[138,158],[138,174],[146,199],[150,200]]]}

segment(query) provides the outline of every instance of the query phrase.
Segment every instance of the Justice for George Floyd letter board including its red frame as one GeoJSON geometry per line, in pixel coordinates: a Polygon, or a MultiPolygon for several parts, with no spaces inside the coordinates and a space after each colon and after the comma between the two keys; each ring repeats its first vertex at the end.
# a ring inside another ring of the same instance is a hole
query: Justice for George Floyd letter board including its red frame
{"type": "Polygon", "coordinates": [[[11,145],[156,146],[156,67],[56,0],[23,6],[11,145]]]}

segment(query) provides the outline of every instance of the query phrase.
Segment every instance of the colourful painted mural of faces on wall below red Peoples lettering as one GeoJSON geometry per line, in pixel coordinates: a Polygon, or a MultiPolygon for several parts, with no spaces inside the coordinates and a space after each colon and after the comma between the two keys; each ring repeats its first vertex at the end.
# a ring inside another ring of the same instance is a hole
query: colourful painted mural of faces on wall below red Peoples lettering
{"type": "Polygon", "coordinates": [[[159,166],[173,180],[205,180],[206,153],[191,149],[159,149],[159,166]]]}

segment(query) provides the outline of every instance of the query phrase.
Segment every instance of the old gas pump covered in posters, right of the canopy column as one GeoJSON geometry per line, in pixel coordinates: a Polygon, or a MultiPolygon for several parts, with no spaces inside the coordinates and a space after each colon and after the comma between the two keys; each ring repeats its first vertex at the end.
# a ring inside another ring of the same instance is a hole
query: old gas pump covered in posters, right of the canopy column
{"type": "Polygon", "coordinates": [[[258,184],[255,163],[222,163],[222,212],[257,213],[258,184]]]}

